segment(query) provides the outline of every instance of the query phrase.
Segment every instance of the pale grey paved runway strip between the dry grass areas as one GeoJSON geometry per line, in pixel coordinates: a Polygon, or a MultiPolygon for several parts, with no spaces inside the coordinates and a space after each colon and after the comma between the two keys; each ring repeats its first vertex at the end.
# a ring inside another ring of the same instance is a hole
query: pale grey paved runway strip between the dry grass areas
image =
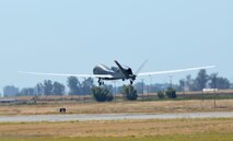
{"type": "Polygon", "coordinates": [[[0,122],[88,121],[124,119],[177,119],[177,118],[233,118],[233,111],[185,113],[185,114],[77,114],[0,116],[0,122]]]}

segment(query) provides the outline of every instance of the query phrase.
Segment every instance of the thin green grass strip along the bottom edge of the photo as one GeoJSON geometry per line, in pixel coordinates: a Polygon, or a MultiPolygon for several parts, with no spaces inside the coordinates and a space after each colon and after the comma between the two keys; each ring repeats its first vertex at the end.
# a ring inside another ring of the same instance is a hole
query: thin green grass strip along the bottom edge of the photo
{"type": "Polygon", "coordinates": [[[11,137],[1,138],[0,141],[233,141],[233,132],[202,133],[202,134],[175,134],[153,137],[11,137]]]}

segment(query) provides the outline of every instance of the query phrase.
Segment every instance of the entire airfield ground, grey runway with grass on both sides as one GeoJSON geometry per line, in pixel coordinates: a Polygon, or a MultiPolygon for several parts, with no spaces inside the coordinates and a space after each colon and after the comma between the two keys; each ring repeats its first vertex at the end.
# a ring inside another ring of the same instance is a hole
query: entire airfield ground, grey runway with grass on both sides
{"type": "Polygon", "coordinates": [[[0,106],[0,141],[231,141],[233,99],[0,106]],[[60,114],[59,108],[67,113],[60,114]]]}

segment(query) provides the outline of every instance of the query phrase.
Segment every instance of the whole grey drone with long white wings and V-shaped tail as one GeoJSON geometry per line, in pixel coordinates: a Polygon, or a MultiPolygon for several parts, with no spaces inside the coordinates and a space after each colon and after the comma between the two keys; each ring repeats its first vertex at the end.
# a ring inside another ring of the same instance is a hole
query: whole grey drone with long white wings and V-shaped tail
{"type": "Polygon", "coordinates": [[[139,73],[140,70],[147,63],[147,60],[141,64],[141,67],[136,71],[132,72],[132,69],[120,64],[118,61],[114,61],[116,67],[108,68],[104,64],[97,64],[93,69],[93,74],[65,74],[65,73],[42,73],[42,72],[28,72],[28,71],[19,71],[20,73],[27,73],[27,74],[36,74],[36,75],[57,75],[57,77],[77,77],[77,78],[97,78],[98,85],[104,84],[106,80],[129,80],[130,84],[133,83],[137,77],[141,75],[156,75],[156,74],[168,74],[168,73],[176,73],[176,72],[185,72],[185,71],[194,71],[200,69],[210,69],[214,68],[215,66],[206,66],[206,67],[197,67],[197,68],[187,68],[187,69],[179,69],[179,70],[168,70],[168,71],[154,71],[154,72],[143,72],[139,73]]]}

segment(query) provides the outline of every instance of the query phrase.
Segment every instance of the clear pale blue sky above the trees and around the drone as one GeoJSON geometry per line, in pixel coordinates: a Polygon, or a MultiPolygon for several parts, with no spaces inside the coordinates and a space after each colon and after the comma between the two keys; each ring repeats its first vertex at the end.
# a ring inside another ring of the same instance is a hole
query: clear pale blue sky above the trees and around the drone
{"type": "MultiPolygon", "coordinates": [[[[232,7],[232,0],[1,1],[0,87],[66,82],[19,70],[92,73],[95,64],[112,66],[114,59],[135,70],[148,59],[143,71],[215,64],[209,73],[233,81],[232,7]]],[[[174,81],[187,74],[174,74],[174,81]]]]}

